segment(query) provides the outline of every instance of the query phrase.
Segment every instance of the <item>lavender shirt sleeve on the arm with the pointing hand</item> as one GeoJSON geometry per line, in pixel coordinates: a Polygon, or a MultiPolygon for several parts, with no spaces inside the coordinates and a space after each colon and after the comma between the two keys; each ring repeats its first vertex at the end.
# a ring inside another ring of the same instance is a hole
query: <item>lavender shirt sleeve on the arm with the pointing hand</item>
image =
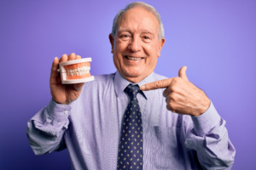
{"type": "Polygon", "coordinates": [[[212,102],[205,113],[191,118],[185,147],[196,151],[204,169],[231,169],[236,150],[230,142],[226,122],[218,115],[212,102]]]}

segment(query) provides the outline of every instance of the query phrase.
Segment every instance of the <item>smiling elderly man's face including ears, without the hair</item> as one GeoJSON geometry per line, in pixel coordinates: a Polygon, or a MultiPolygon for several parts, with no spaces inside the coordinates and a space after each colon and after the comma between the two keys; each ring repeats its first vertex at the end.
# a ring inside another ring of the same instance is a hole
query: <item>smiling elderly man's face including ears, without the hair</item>
{"type": "Polygon", "coordinates": [[[115,37],[109,35],[113,63],[130,82],[141,82],[154,71],[165,39],[158,40],[159,22],[146,9],[135,7],[119,17],[115,37]]]}

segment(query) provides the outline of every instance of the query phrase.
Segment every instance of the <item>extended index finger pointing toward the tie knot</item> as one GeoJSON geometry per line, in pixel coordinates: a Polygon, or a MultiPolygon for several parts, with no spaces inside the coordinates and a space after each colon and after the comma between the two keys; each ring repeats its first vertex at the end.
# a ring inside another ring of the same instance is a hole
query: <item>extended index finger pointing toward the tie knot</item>
{"type": "Polygon", "coordinates": [[[149,82],[141,86],[140,89],[143,91],[148,91],[148,90],[154,90],[158,88],[167,88],[170,86],[172,81],[173,81],[173,78],[167,78],[167,79],[163,79],[155,82],[149,82]]]}

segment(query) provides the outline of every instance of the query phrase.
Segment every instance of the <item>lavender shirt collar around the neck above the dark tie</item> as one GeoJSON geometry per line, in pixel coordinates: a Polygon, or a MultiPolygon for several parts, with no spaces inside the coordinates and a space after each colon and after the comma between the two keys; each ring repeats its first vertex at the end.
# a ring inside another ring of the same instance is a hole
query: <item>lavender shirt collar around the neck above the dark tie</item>
{"type": "MultiPolygon", "coordinates": [[[[119,71],[116,71],[115,76],[114,76],[114,90],[115,93],[117,94],[117,96],[119,97],[119,95],[124,93],[125,88],[128,86],[128,84],[138,84],[139,87],[143,86],[143,84],[147,84],[148,82],[154,82],[154,71],[148,75],[148,77],[144,78],[143,81],[138,82],[138,83],[133,83],[133,82],[129,82],[125,79],[125,77],[123,77],[119,71]]],[[[143,94],[145,95],[145,98],[147,99],[147,95],[150,93],[150,91],[143,91],[143,94]]]]}

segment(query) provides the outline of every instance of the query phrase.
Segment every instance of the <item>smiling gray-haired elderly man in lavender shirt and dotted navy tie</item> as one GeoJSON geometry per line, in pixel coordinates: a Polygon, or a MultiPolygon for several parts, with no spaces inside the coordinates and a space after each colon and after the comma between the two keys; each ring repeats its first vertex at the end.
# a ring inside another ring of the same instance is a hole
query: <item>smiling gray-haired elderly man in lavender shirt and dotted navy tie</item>
{"type": "Polygon", "coordinates": [[[186,67],[169,79],[154,73],[165,43],[157,11],[129,4],[109,40],[117,71],[93,82],[61,84],[58,64],[80,56],[54,59],[52,99],[27,125],[34,153],[67,148],[73,169],[230,169],[225,121],[186,67]]]}

